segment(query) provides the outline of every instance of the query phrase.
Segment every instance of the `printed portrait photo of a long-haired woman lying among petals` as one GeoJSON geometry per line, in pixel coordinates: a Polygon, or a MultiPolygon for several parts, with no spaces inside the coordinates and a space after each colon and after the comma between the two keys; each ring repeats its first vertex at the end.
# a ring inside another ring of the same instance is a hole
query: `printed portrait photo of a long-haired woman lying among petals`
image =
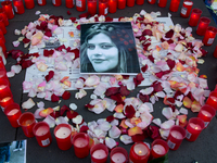
{"type": "Polygon", "coordinates": [[[82,24],[80,43],[80,73],[140,73],[130,22],[82,24]]]}

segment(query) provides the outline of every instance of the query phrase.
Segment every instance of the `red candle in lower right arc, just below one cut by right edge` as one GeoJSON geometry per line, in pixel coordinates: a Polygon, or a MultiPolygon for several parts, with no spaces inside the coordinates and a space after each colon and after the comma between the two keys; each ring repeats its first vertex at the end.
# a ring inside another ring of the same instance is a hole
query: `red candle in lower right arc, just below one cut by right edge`
{"type": "Polygon", "coordinates": [[[216,110],[208,105],[208,104],[204,104],[199,114],[197,114],[197,117],[200,117],[201,120],[204,121],[204,125],[205,125],[205,128],[208,126],[209,122],[212,121],[212,118],[216,115],[216,110]]]}

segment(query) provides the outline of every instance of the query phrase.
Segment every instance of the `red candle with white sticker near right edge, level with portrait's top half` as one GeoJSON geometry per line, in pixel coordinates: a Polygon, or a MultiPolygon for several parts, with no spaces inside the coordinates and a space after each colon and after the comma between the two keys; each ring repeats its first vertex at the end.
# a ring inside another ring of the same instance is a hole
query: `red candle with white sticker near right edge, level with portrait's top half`
{"type": "Polygon", "coordinates": [[[204,38],[203,38],[203,43],[205,46],[212,46],[213,42],[214,42],[214,39],[216,37],[216,33],[217,33],[217,28],[214,27],[214,26],[208,26],[206,32],[205,32],[205,35],[204,35],[204,38]]]}

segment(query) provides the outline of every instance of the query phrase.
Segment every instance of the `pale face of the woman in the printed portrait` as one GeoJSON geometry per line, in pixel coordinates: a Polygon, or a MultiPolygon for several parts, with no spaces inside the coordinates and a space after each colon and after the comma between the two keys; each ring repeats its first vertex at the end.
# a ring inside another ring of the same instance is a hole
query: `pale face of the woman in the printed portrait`
{"type": "Polygon", "coordinates": [[[88,40],[87,54],[95,72],[103,73],[118,64],[118,49],[105,34],[98,34],[88,40]]]}

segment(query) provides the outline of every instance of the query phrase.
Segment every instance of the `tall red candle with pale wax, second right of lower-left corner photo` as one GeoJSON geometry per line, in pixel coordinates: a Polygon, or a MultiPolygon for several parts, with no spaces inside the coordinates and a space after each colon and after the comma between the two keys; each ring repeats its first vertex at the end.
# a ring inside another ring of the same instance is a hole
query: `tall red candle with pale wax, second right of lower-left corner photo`
{"type": "Polygon", "coordinates": [[[72,143],[72,127],[68,124],[60,124],[54,128],[58,147],[61,150],[68,150],[72,143]]]}

